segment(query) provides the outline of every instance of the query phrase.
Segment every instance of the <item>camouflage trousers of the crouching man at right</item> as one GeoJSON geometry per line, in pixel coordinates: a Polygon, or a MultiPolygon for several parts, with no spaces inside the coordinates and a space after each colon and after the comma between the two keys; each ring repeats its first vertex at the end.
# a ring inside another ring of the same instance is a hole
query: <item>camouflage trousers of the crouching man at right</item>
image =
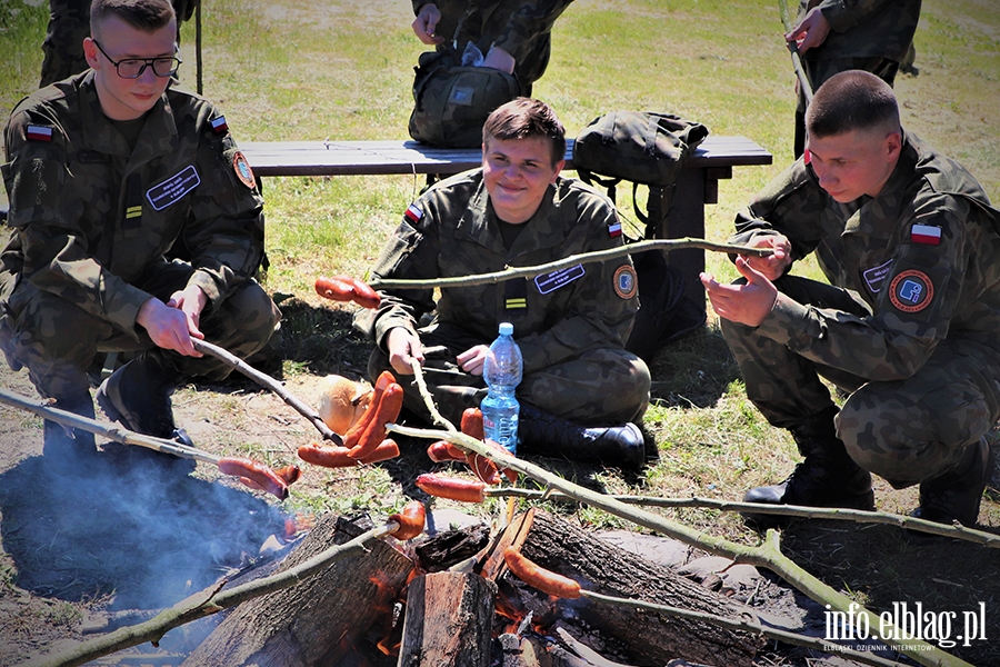
{"type": "MultiPolygon", "coordinates": [[[[868,306],[848,290],[786,276],[776,286],[800,303],[859,317],[868,306]]],[[[833,405],[826,378],[847,394],[837,434],[862,468],[897,488],[954,467],[1000,419],[1000,355],[970,340],[942,340],[912,377],[868,381],[816,364],[752,327],[722,321],[747,396],[768,421],[793,427],[833,405]]]]}

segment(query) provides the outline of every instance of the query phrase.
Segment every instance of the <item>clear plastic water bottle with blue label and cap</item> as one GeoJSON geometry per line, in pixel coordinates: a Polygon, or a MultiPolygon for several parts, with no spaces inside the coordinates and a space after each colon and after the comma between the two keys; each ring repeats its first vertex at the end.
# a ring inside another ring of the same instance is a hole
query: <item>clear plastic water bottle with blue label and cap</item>
{"type": "Polygon", "coordinates": [[[523,359],[513,339],[513,325],[500,322],[500,336],[490,345],[482,377],[489,387],[482,399],[482,427],[486,437],[514,454],[518,448],[518,415],[521,406],[514,388],[521,384],[523,359]]]}

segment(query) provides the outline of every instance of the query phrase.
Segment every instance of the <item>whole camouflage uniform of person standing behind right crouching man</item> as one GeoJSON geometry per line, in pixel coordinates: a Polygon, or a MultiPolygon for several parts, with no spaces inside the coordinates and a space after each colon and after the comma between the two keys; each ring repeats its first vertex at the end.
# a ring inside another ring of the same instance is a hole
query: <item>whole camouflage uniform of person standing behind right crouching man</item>
{"type": "MultiPolygon", "coordinates": [[[[917,23],[921,0],[802,0],[801,20],[819,6],[830,23],[830,34],[819,47],[802,56],[802,67],[819,90],[823,82],[852,69],[871,72],[889,86],[896,81],[899,63],[907,57],[917,23]]],[[[799,93],[796,109],[796,157],[806,145],[806,98],[799,93]]]]}

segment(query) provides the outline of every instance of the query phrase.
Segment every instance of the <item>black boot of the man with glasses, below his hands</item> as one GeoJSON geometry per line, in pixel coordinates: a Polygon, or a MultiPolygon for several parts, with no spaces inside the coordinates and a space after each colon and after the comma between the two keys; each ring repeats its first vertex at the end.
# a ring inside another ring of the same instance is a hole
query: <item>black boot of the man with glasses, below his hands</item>
{"type": "MultiPolygon", "coordinates": [[[[159,354],[146,351],[101,382],[97,401],[109,419],[120,422],[129,430],[193,447],[187,431],[177,428],[173,422],[170,395],[179,381],[177,372],[169,368],[159,354]]],[[[164,462],[182,460],[154,450],[142,449],[133,454],[164,462]]],[[[183,468],[194,468],[193,460],[183,460],[183,468]]]]}

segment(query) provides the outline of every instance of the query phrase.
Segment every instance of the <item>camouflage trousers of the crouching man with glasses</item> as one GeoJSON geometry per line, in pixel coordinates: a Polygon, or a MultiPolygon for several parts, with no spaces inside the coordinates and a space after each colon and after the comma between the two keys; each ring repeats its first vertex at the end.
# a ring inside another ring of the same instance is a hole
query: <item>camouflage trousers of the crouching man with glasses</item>
{"type": "MultiPolygon", "coordinates": [[[[139,287],[167,301],[183,289],[193,269],[187,262],[163,263],[150,271],[139,287]]],[[[28,376],[44,398],[79,402],[89,396],[87,370],[99,352],[141,351],[156,346],[142,327],[122,331],[73,303],[40,290],[24,280],[13,288],[0,317],[0,349],[14,369],[28,376]]],[[[217,308],[201,315],[199,328],[206,340],[244,359],[267,345],[281,317],[268,293],[248,280],[217,308]]],[[[213,357],[186,357],[161,350],[162,358],[182,377],[224,379],[231,368],[213,357]]]]}

